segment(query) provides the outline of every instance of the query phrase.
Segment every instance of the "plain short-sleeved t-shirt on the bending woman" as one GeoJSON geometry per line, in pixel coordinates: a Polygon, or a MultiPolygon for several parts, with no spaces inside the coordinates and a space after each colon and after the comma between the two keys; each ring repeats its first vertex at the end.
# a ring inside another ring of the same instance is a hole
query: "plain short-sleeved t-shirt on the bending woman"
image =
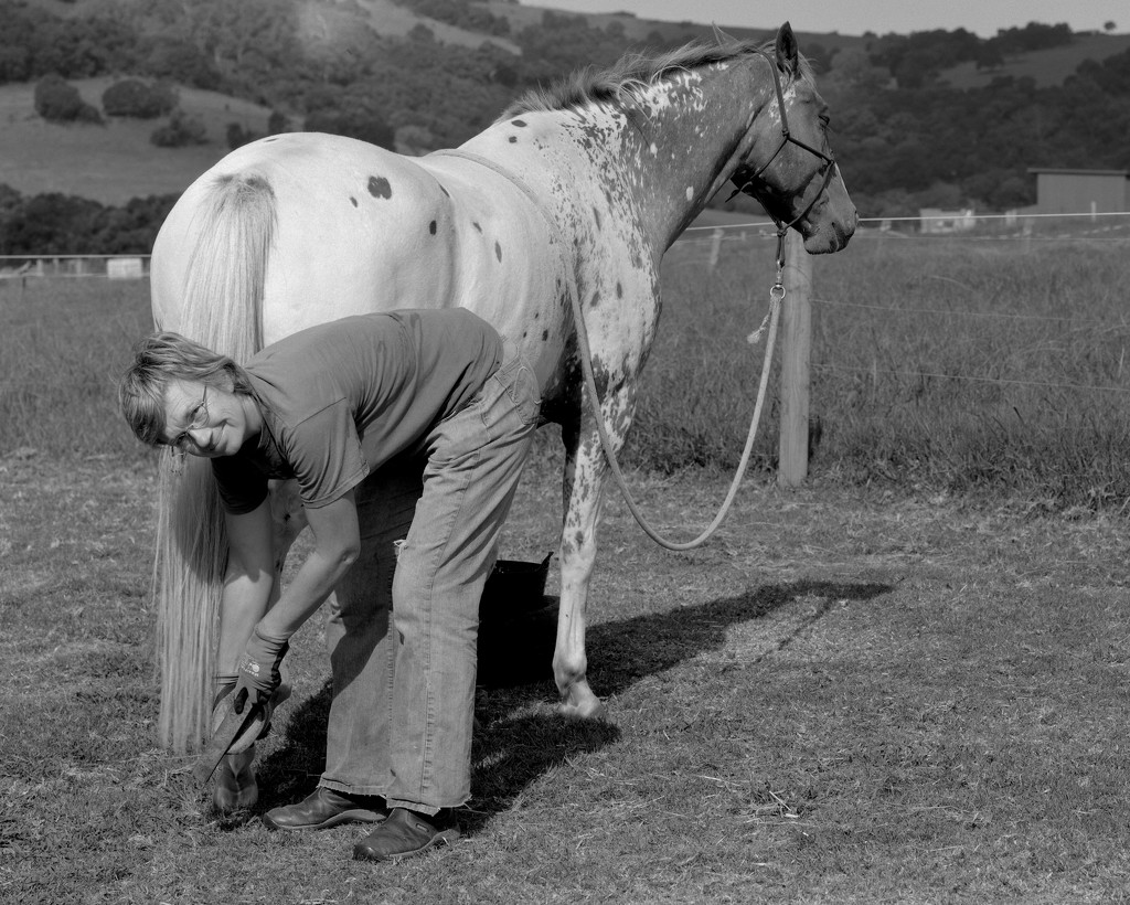
{"type": "Polygon", "coordinates": [[[268,346],[246,365],[263,429],[211,460],[225,508],[254,510],[268,478],[297,478],[310,508],[332,503],[415,450],[502,356],[495,329],[466,308],[360,314],[268,346]]]}

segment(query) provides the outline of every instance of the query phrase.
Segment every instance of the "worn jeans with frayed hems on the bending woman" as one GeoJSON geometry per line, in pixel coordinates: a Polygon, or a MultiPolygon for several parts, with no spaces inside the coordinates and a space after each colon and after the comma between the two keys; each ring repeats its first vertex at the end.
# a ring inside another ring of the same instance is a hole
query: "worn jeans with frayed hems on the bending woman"
{"type": "Polygon", "coordinates": [[[362,555],[325,633],[328,789],[433,815],[470,798],[479,599],[540,407],[533,369],[505,346],[483,389],[428,434],[423,461],[391,462],[357,488],[362,555]]]}

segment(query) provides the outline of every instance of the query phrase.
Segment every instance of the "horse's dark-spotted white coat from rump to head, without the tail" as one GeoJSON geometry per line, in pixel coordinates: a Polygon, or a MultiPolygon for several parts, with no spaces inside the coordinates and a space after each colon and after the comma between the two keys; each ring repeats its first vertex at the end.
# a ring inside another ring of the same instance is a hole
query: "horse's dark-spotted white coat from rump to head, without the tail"
{"type": "MultiPolygon", "coordinates": [[[[601,415],[619,447],[658,329],[663,252],[709,198],[780,141],[772,64],[750,51],[685,50],[651,70],[625,67],[556,95],[531,95],[460,149],[494,166],[458,154],[399,157],[323,134],[254,142],[185,192],[154,249],[155,315],[176,329],[184,307],[205,304],[184,297],[197,211],[225,191],[217,175],[231,184],[254,174],[275,197],[262,264],[264,342],[357,312],[455,305],[520,342],[541,385],[542,415],[562,425],[566,450],[554,671],[570,714],[601,710],[585,678],[584,632],[607,469],[581,381],[572,294],[584,311],[601,415]],[[382,203],[357,206],[356,173],[373,174],[366,189],[382,203]],[[334,200],[342,195],[356,217],[340,216],[334,200]],[[425,233],[434,240],[426,245],[417,238],[425,233]],[[534,322],[541,329],[531,330],[534,322]]],[[[779,36],[776,64],[793,132],[826,147],[820,101],[807,77],[794,76],[791,31],[779,36]]],[[[781,151],[758,197],[791,219],[810,200],[818,165],[792,148],[781,151]]],[[[841,247],[854,225],[836,177],[797,226],[819,252],[841,247]]],[[[228,260],[241,253],[233,244],[228,260]]],[[[253,299],[235,295],[207,303],[224,306],[228,319],[241,305],[255,310],[253,299]]]]}

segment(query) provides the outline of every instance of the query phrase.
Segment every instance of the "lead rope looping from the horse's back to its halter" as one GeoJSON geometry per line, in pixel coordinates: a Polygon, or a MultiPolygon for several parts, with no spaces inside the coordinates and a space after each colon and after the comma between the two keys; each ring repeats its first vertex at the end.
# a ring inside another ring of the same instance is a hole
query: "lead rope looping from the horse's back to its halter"
{"type": "Polygon", "coordinates": [[[765,343],[765,359],[762,363],[762,377],[760,383],[757,386],[757,402],[754,404],[754,415],[749,421],[749,430],[746,434],[746,446],[741,451],[741,461],[738,462],[738,470],[733,476],[733,480],[730,482],[730,489],[727,493],[725,499],[719,508],[718,514],[714,516],[714,521],[712,521],[710,525],[707,525],[694,540],[668,540],[651,527],[646,516],[644,516],[644,514],[640,511],[640,507],[636,505],[636,502],[632,496],[632,491],[628,489],[627,481],[624,479],[624,472],[620,471],[619,462],[616,460],[616,452],[612,450],[612,442],[608,436],[608,428],[605,426],[605,419],[600,412],[600,408],[603,403],[600,399],[600,394],[597,392],[597,381],[592,373],[592,349],[589,346],[589,331],[584,325],[584,315],[581,310],[581,296],[576,288],[576,277],[573,272],[573,268],[568,267],[564,260],[565,238],[562,235],[560,228],[553,219],[550,219],[549,215],[546,212],[545,208],[542,208],[540,201],[533,194],[531,189],[522,180],[504,169],[494,160],[487,157],[480,157],[471,151],[458,149],[434,151],[431,156],[437,155],[463,157],[468,160],[480,164],[488,169],[493,169],[499,176],[510,180],[510,182],[521,189],[533,207],[541,212],[541,217],[549,227],[550,234],[562,249],[562,262],[565,264],[566,288],[568,289],[570,302],[573,306],[573,320],[576,325],[577,354],[581,358],[581,371],[584,373],[584,383],[585,389],[589,391],[589,398],[593,400],[592,417],[597,423],[597,434],[600,436],[600,445],[605,452],[605,459],[608,461],[608,465],[612,471],[612,477],[616,479],[616,486],[620,490],[620,496],[624,497],[624,502],[627,504],[628,511],[632,513],[640,528],[643,529],[644,533],[660,547],[664,547],[668,550],[693,550],[696,547],[701,547],[719,529],[725,520],[725,516],[729,514],[730,507],[733,505],[733,499],[738,495],[738,488],[741,486],[742,478],[746,475],[746,469],[749,465],[749,455],[753,452],[754,441],[757,436],[757,426],[760,421],[762,408],[765,403],[765,390],[768,386],[770,367],[773,363],[773,350],[776,345],[777,320],[781,313],[781,302],[784,299],[785,295],[783,282],[784,232],[777,233],[776,282],[773,285],[773,288],[770,289],[770,310],[762,320],[760,327],[747,337],[747,341],[751,345],[759,342],[767,323],[768,340],[765,343]]]}

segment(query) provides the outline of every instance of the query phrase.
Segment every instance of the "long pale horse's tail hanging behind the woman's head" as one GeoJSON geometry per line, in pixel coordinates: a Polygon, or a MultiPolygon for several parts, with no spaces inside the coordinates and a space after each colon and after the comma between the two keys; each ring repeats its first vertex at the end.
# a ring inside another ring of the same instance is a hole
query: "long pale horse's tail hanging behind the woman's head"
{"type": "MultiPolygon", "coordinates": [[[[195,214],[181,332],[236,362],[262,347],[267,256],[276,228],[275,193],[262,176],[224,175],[195,214]]],[[[211,465],[166,453],[160,468],[157,557],[158,740],[183,754],[211,731],[219,600],[227,538],[211,465]]]]}

